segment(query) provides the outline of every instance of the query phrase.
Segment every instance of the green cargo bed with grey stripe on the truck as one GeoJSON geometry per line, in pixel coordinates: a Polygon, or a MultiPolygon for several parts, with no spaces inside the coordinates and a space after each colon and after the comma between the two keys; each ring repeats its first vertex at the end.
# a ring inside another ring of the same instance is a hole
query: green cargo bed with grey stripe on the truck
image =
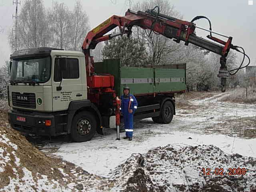
{"type": "Polygon", "coordinates": [[[134,95],[186,90],[186,68],[121,67],[119,59],[107,59],[94,63],[97,74],[112,74],[118,96],[123,87],[129,86],[134,95]]]}

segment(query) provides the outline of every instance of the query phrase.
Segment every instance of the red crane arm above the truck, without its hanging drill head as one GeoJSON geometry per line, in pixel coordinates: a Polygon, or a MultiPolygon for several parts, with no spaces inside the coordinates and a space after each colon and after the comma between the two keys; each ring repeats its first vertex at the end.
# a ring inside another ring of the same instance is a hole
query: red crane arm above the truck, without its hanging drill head
{"type": "Polygon", "coordinates": [[[180,42],[180,40],[182,40],[186,45],[188,45],[188,43],[195,44],[221,56],[225,56],[228,53],[232,41],[232,37],[229,37],[229,40],[224,42],[216,37],[208,36],[211,40],[224,45],[220,46],[219,44],[215,44],[214,42],[194,35],[193,32],[196,26],[192,22],[179,20],[163,14],[160,14],[160,16],[156,18],[156,16],[145,12],[134,12],[132,10],[128,10],[125,16],[121,17],[113,15],[102,24],[88,32],[82,45],[82,50],[94,49],[99,42],[109,40],[114,36],[124,33],[130,33],[133,26],[153,30],[167,38],[174,38],[176,42],[180,42]],[[104,34],[117,26],[120,29],[120,33],[104,36],[104,34]],[[128,30],[125,30],[126,28],[128,30]]]}

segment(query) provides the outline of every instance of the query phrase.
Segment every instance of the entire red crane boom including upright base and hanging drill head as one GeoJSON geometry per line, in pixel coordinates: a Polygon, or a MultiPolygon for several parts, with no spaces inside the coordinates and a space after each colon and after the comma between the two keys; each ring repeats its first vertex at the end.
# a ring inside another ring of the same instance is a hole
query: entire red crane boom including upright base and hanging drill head
{"type": "MultiPolygon", "coordinates": [[[[94,73],[93,57],[90,56],[90,49],[94,49],[99,42],[109,40],[114,36],[119,36],[122,34],[128,34],[128,36],[130,36],[132,33],[132,27],[138,26],[140,28],[148,29],[151,30],[151,32],[153,31],[154,33],[161,34],[167,38],[173,39],[177,43],[180,43],[180,41],[185,42],[185,45],[191,43],[200,48],[204,48],[205,50],[220,55],[220,70],[218,77],[221,78],[222,91],[224,92],[226,86],[226,78],[228,77],[226,57],[228,56],[230,48],[236,49],[231,44],[232,37],[224,36],[228,38],[228,40],[225,42],[212,36],[212,33],[214,32],[210,30],[210,35],[207,37],[211,41],[206,40],[196,36],[194,33],[196,25],[193,22],[179,20],[171,16],[160,14],[159,8],[158,12],[154,11],[154,9],[147,10],[146,12],[136,12],[128,9],[125,16],[113,15],[102,24],[88,32],[82,45],[82,50],[86,56],[86,68],[88,76],[94,73]],[[105,35],[107,32],[116,27],[120,29],[119,33],[105,35]]],[[[198,17],[200,18],[202,16],[198,17]]]]}

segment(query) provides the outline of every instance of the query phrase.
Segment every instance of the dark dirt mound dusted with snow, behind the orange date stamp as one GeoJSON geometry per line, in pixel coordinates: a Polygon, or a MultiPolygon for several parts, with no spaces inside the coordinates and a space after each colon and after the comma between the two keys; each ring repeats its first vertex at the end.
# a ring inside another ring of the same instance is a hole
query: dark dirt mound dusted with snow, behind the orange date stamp
{"type": "Polygon", "coordinates": [[[255,172],[255,158],[239,154],[229,155],[211,145],[178,148],[168,145],[154,148],[144,155],[132,154],[124,164],[112,171],[110,176],[118,181],[114,187],[124,192],[249,192],[256,190],[255,172]],[[207,168],[211,169],[209,175],[207,168]],[[245,168],[246,172],[228,175],[229,168],[245,168]]]}

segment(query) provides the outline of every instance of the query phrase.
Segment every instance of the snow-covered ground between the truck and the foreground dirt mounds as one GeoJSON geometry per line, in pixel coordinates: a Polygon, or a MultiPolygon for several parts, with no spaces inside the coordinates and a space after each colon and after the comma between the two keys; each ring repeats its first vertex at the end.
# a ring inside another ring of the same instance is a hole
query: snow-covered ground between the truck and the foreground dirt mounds
{"type": "MultiPolygon", "coordinates": [[[[97,135],[89,142],[56,142],[45,147],[56,147],[58,151],[55,154],[64,160],[105,177],[131,154],[144,154],[154,147],[167,144],[211,144],[228,154],[256,157],[256,106],[218,102],[225,94],[228,93],[190,101],[191,109],[176,109],[177,115],[170,124],[156,124],[151,118],[135,122],[132,141],[122,137],[121,140],[115,140],[115,130],[106,129],[105,136],[97,135]],[[226,125],[225,122],[229,123],[226,125]]],[[[124,135],[121,133],[121,136],[124,135]]]]}

